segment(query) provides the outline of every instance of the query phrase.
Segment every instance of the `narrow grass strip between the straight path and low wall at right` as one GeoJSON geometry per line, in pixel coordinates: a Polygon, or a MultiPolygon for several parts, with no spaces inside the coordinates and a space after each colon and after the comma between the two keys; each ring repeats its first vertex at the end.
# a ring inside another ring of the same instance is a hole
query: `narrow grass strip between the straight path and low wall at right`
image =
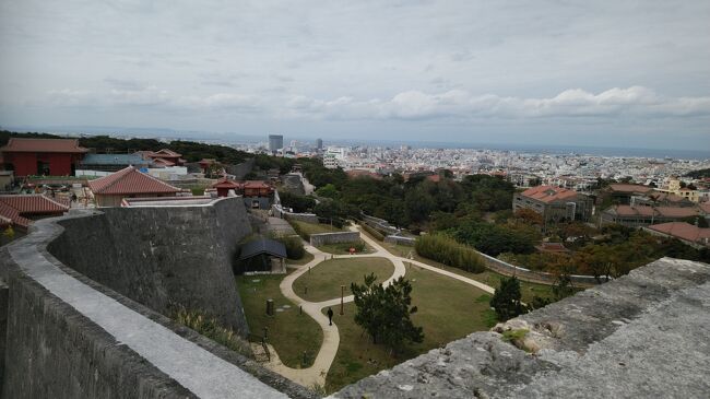
{"type": "MultiPolygon", "coordinates": [[[[448,270],[452,273],[457,273],[459,275],[466,277],[472,280],[481,281],[484,284],[490,285],[494,289],[497,289],[500,286],[500,279],[504,278],[505,275],[496,273],[495,271],[486,270],[482,273],[471,273],[465,270],[452,268],[450,266],[446,266],[443,263],[436,262],[431,259],[421,257],[419,255],[416,254],[416,250],[414,250],[414,247],[409,247],[405,245],[395,245],[395,244],[389,244],[389,243],[381,243],[382,247],[384,249],[389,250],[393,255],[402,256],[402,257],[407,257],[409,254],[412,254],[414,257],[414,260],[418,260],[423,263],[427,263],[430,266],[434,266],[439,269],[448,270]]],[[[530,303],[532,302],[533,296],[537,295],[540,297],[547,297],[552,298],[553,293],[552,293],[552,286],[551,285],[545,285],[545,284],[537,284],[537,283],[530,283],[526,281],[520,281],[520,291],[522,294],[522,302],[524,303],[530,303]]]]}

